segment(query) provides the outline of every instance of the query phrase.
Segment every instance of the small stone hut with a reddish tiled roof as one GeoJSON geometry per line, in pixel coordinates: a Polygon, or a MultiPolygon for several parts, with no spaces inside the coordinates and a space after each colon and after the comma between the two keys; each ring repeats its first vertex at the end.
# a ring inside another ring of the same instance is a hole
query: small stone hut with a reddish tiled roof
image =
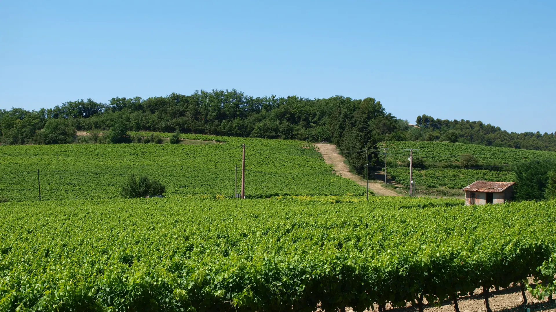
{"type": "Polygon", "coordinates": [[[464,187],[466,205],[503,204],[512,200],[515,182],[475,181],[464,187]]]}

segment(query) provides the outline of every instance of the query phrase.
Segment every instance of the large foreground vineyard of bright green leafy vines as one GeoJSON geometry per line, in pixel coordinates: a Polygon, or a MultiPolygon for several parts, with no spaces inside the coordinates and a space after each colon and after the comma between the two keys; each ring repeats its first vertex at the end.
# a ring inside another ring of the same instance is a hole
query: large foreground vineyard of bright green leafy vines
{"type": "Polygon", "coordinates": [[[555,204],[0,203],[0,310],[314,311],[320,303],[361,311],[433,302],[538,274],[556,251],[555,204]]]}

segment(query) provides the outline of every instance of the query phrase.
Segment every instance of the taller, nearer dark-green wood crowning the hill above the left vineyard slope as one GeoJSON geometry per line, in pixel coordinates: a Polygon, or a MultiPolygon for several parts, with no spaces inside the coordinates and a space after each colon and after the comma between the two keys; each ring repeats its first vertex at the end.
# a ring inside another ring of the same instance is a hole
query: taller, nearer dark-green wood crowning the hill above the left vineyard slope
{"type": "MultiPolygon", "coordinates": [[[[254,98],[236,90],[213,90],[148,99],[116,97],[110,104],[78,100],[38,112],[1,110],[0,141],[46,143],[35,133],[49,119],[71,120],[78,130],[111,129],[106,142],[112,143],[126,142],[122,135],[125,124],[124,130],[131,131],[326,140],[341,150],[372,148],[399,127],[398,120],[374,98],[254,98]]],[[[364,158],[359,154],[346,158],[359,173],[363,172],[364,158]]]]}

